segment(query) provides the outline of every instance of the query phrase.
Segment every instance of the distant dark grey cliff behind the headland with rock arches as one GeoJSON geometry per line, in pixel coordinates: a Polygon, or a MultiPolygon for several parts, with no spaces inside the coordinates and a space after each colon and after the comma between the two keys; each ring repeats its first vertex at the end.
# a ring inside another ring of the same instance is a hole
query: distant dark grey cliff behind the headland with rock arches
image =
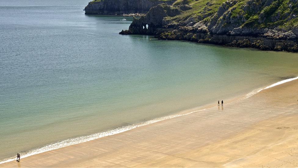
{"type": "Polygon", "coordinates": [[[128,13],[147,13],[158,4],[173,4],[175,0],[95,0],[85,7],[85,14],[120,15],[128,13]]]}

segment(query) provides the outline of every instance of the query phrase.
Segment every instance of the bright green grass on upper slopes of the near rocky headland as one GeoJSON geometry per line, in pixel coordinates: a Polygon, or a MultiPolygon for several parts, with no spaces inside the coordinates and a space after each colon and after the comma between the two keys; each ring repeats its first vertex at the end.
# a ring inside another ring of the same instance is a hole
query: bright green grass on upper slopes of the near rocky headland
{"type": "MultiPolygon", "coordinates": [[[[217,13],[219,6],[226,1],[177,0],[173,4],[174,6],[187,4],[192,9],[182,11],[180,15],[166,19],[176,24],[182,23],[190,17],[194,21],[209,21],[217,13]]],[[[236,20],[236,23],[239,23],[241,27],[274,28],[279,26],[289,29],[298,24],[297,18],[290,18],[293,14],[298,15],[298,2],[293,0],[275,0],[269,6],[265,6],[262,0],[237,0],[237,3],[228,10],[231,11],[231,19],[234,18],[234,23],[236,20]],[[248,7],[244,8],[244,6],[248,7]],[[237,19],[239,19],[238,22],[237,19]]],[[[225,23],[223,26],[229,24],[225,23]]]]}

